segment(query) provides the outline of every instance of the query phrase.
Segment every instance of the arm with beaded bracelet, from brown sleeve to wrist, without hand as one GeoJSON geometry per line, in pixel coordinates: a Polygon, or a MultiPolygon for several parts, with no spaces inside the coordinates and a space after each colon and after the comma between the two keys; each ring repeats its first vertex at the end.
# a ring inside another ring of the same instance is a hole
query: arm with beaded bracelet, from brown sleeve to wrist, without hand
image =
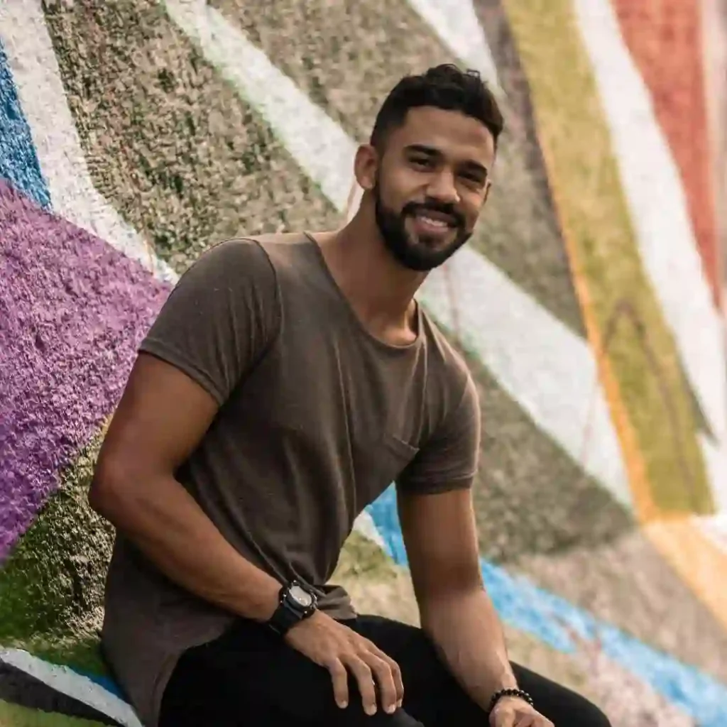
{"type": "Polygon", "coordinates": [[[422,627],[467,693],[487,707],[497,690],[517,685],[480,572],[472,502],[480,440],[479,397],[467,373],[396,490],[422,627]]]}

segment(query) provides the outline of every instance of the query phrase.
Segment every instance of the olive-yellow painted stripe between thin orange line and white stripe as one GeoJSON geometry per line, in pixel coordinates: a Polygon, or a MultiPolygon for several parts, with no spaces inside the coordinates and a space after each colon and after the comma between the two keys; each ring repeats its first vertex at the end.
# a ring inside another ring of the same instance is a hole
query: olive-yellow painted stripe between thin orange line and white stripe
{"type": "MultiPolygon", "coordinates": [[[[664,511],[711,513],[691,398],[635,245],[608,126],[571,3],[504,4],[529,79],[548,176],[559,191],[558,215],[569,230],[571,250],[578,253],[602,343],[614,312],[625,308],[635,313],[635,324],[630,315],[619,315],[607,347],[651,497],[664,511]]],[[[645,498],[643,491],[634,494],[645,498]]]]}

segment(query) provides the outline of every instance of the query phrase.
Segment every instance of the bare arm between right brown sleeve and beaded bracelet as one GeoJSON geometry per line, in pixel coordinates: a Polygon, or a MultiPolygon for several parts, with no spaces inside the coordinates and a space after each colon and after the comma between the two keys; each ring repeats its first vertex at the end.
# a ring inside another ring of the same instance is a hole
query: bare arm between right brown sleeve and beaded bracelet
{"type": "Polygon", "coordinates": [[[470,489],[398,495],[422,628],[483,709],[517,682],[497,612],[484,589],[470,489]]]}

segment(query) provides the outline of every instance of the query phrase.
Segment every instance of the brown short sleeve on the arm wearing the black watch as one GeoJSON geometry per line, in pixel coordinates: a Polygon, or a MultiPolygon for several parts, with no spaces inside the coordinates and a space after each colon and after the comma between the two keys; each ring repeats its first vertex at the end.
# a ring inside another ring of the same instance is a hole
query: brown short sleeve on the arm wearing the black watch
{"type": "Polygon", "coordinates": [[[177,366],[222,406],[278,332],[276,274],[252,240],[204,252],[164,302],[140,351],[177,366]]]}

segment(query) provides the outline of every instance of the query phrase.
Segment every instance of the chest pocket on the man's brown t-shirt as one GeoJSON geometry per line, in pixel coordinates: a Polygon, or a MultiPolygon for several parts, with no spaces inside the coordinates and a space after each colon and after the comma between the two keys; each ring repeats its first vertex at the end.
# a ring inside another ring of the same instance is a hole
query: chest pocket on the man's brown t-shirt
{"type": "Polygon", "coordinates": [[[403,439],[383,432],[353,445],[358,507],[366,507],[406,469],[419,449],[403,439]]]}

